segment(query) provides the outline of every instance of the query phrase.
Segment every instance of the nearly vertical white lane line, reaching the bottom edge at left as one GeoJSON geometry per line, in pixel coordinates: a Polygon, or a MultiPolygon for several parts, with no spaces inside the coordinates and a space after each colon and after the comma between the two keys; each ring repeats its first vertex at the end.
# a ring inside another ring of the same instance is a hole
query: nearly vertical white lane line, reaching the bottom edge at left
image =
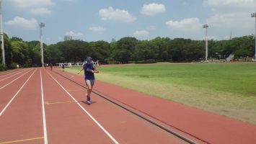
{"type": "Polygon", "coordinates": [[[40,68],[40,78],[41,78],[41,95],[42,95],[42,109],[43,109],[43,136],[44,136],[45,144],[48,144],[46,120],[45,120],[45,101],[43,99],[43,78],[42,78],[41,68],[40,68]]]}

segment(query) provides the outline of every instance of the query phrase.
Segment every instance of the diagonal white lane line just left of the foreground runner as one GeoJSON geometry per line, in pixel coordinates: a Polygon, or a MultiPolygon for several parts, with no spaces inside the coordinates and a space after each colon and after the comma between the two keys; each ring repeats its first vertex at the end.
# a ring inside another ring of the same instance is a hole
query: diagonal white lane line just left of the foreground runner
{"type": "MultiPolygon", "coordinates": [[[[53,76],[47,71],[48,75],[53,78],[53,76]]],[[[66,91],[66,89],[56,80],[56,78],[53,78],[54,81],[56,81],[56,83],[61,86],[61,88],[66,91]]],[[[71,99],[74,100],[74,102],[76,102],[76,104],[79,105],[79,107],[81,107],[81,104],[79,104],[79,102],[76,101],[76,99],[74,98],[74,96],[72,96],[69,91],[66,91],[66,94],[69,94],[69,96],[71,96],[71,99]]],[[[91,114],[89,114],[89,112],[87,112],[86,109],[84,109],[84,107],[81,107],[81,109],[105,132],[105,134],[107,134],[107,136],[115,143],[115,144],[119,144],[117,140],[115,140],[115,138],[112,137],[112,135],[110,135],[110,132],[107,132],[107,130],[105,130],[104,127],[102,127],[102,125],[100,125],[99,122],[97,122],[97,120],[94,119],[94,117],[92,117],[91,114]]]]}

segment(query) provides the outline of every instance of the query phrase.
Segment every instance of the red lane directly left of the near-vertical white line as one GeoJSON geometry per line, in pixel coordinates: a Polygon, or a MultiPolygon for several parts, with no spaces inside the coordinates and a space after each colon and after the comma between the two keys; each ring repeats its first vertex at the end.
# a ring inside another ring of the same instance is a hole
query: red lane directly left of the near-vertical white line
{"type": "Polygon", "coordinates": [[[0,143],[43,143],[40,71],[30,76],[0,116],[0,143]]]}

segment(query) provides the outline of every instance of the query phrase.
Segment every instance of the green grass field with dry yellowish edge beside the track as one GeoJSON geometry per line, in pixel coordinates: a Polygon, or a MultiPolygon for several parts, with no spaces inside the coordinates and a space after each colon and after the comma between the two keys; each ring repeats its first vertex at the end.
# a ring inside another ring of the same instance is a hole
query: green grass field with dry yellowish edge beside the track
{"type": "MultiPolygon", "coordinates": [[[[79,68],[67,68],[77,73],[79,68]]],[[[102,66],[96,78],[256,125],[256,64],[102,66]]]]}

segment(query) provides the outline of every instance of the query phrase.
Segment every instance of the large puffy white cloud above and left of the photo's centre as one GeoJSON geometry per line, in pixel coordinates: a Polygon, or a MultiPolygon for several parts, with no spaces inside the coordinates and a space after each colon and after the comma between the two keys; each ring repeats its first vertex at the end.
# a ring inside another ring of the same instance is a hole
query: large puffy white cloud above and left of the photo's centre
{"type": "Polygon", "coordinates": [[[123,9],[113,9],[111,6],[107,9],[100,9],[100,17],[102,20],[115,20],[122,22],[134,22],[136,17],[131,16],[129,12],[123,9]]]}

